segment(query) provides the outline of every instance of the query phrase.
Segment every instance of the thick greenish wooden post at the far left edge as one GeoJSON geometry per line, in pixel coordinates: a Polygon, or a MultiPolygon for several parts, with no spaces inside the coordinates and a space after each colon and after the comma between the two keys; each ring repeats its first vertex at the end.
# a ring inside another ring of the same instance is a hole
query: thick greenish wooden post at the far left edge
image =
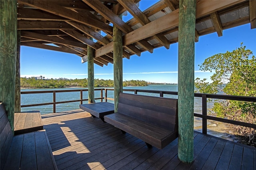
{"type": "Polygon", "coordinates": [[[14,130],[14,97],[17,50],[17,1],[0,1],[0,101],[14,130]]]}

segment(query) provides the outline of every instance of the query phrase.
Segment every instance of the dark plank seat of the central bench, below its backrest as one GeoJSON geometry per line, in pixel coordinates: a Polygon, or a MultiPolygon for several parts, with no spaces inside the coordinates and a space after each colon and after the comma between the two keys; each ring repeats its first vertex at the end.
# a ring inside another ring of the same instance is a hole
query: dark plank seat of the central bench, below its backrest
{"type": "Polygon", "coordinates": [[[178,136],[178,132],[166,130],[120,113],[106,116],[105,121],[159,149],[164,148],[178,136]]]}

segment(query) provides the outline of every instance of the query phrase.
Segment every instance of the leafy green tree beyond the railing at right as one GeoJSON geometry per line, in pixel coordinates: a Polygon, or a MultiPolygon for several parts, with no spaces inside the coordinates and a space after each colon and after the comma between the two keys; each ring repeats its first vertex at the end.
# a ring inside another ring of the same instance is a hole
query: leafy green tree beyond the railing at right
{"type": "MultiPolygon", "coordinates": [[[[252,51],[242,45],[232,52],[219,53],[205,59],[200,70],[210,71],[212,83],[206,79],[196,78],[196,92],[217,93],[223,91],[227,95],[256,96],[256,59],[252,51]]],[[[222,100],[214,103],[212,110],[218,117],[256,123],[256,103],[244,101],[222,100]]],[[[234,126],[234,131],[247,135],[252,142],[254,129],[234,126]]],[[[256,140],[255,140],[256,141],[256,140]]]]}

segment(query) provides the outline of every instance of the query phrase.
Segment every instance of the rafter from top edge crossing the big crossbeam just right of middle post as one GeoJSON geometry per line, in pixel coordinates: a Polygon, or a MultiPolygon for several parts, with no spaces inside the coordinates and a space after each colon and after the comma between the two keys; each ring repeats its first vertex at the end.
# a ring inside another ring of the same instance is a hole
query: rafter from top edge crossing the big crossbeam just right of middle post
{"type": "MultiPolygon", "coordinates": [[[[110,9],[108,9],[99,0],[83,0],[88,6],[93,8],[96,12],[101,14],[104,18],[112,22],[118,29],[120,29],[124,34],[132,32],[133,29],[126,24],[121,18],[114,14],[110,9]]],[[[148,43],[146,40],[140,40],[138,43],[148,50],[150,53],[153,52],[154,47],[148,43]]]]}

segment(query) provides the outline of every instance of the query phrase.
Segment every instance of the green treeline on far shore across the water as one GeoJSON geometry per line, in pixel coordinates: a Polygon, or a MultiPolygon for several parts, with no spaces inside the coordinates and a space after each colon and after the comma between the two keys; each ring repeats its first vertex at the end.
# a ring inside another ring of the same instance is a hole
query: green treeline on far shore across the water
{"type": "MultiPolygon", "coordinates": [[[[143,80],[124,81],[123,86],[147,86],[143,80]]],[[[88,79],[36,79],[20,78],[21,88],[66,88],[66,87],[88,87],[88,79]]],[[[94,87],[114,87],[113,80],[94,79],[94,87]]]]}

